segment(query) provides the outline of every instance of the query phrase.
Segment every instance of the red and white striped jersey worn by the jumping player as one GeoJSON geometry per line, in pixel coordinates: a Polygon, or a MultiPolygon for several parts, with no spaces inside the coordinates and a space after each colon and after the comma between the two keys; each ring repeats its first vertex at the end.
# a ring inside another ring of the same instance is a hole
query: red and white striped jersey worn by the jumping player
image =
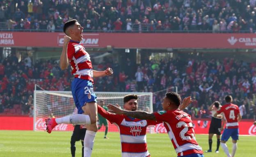
{"type": "Polygon", "coordinates": [[[85,51],[85,47],[79,42],[70,40],[67,53],[72,74],[75,75],[75,78],[81,78],[93,82],[90,55],[85,51]]]}

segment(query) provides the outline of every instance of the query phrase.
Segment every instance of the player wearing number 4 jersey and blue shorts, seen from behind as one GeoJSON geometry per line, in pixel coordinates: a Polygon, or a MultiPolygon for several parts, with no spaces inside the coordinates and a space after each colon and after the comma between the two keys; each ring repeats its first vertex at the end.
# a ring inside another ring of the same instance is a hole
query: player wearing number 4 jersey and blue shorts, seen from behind
{"type": "MultiPolygon", "coordinates": [[[[237,105],[232,104],[232,97],[228,95],[225,97],[225,101],[227,104],[223,105],[219,111],[214,114],[214,117],[217,117],[219,113],[224,113],[224,117],[226,120],[226,128],[221,137],[221,146],[228,157],[234,157],[235,151],[237,149],[237,140],[238,140],[238,122],[242,119],[239,108],[237,105]],[[232,137],[233,149],[232,156],[229,154],[229,149],[226,145],[226,142],[229,140],[229,137],[232,137]]],[[[222,128],[223,129],[223,128],[222,128]]]]}

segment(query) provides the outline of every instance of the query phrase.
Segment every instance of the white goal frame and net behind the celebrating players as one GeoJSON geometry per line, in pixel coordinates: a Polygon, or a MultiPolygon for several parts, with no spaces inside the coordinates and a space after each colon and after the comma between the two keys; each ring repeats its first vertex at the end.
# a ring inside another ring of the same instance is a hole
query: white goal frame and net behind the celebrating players
{"type": "MultiPolygon", "coordinates": [[[[97,101],[123,106],[123,97],[127,94],[138,95],[138,110],[153,112],[152,93],[96,92],[97,101]]],[[[34,91],[34,130],[46,130],[44,120],[48,117],[64,117],[72,115],[75,109],[70,91],[34,91]]],[[[54,130],[72,131],[72,124],[60,124],[54,130]]],[[[99,131],[104,131],[102,126],[99,131]]],[[[108,130],[118,132],[118,128],[108,122],[108,130]]],[[[150,129],[148,129],[150,130],[150,129]]]]}

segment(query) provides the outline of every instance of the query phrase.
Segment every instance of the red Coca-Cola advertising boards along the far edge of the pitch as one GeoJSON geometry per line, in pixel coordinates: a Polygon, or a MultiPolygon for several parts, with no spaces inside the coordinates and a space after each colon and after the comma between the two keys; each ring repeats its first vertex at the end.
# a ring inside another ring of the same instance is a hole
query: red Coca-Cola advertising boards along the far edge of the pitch
{"type": "MultiPolygon", "coordinates": [[[[194,131],[197,134],[208,134],[210,127],[210,119],[205,120],[193,120],[194,131]]],[[[256,135],[256,126],[253,121],[239,122],[239,134],[240,135],[256,135]]],[[[32,117],[0,117],[0,130],[33,130],[33,118],[32,117]]],[[[46,130],[46,125],[43,118],[38,118],[35,123],[35,130],[46,130]]],[[[57,125],[54,130],[58,131],[72,131],[73,126],[71,124],[57,125]]],[[[102,127],[99,131],[104,131],[102,127]]],[[[154,128],[155,133],[166,133],[166,129],[163,124],[158,124],[154,128]]],[[[117,126],[109,123],[110,132],[118,132],[117,126]]]]}

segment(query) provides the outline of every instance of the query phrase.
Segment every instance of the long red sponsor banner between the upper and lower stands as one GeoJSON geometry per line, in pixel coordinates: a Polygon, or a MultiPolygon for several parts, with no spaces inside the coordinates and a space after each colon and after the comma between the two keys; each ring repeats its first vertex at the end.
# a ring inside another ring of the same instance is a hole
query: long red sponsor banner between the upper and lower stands
{"type": "MultiPolygon", "coordinates": [[[[0,47],[60,47],[64,33],[0,32],[0,47]]],[[[254,33],[83,33],[85,48],[255,49],[254,33]]]]}

